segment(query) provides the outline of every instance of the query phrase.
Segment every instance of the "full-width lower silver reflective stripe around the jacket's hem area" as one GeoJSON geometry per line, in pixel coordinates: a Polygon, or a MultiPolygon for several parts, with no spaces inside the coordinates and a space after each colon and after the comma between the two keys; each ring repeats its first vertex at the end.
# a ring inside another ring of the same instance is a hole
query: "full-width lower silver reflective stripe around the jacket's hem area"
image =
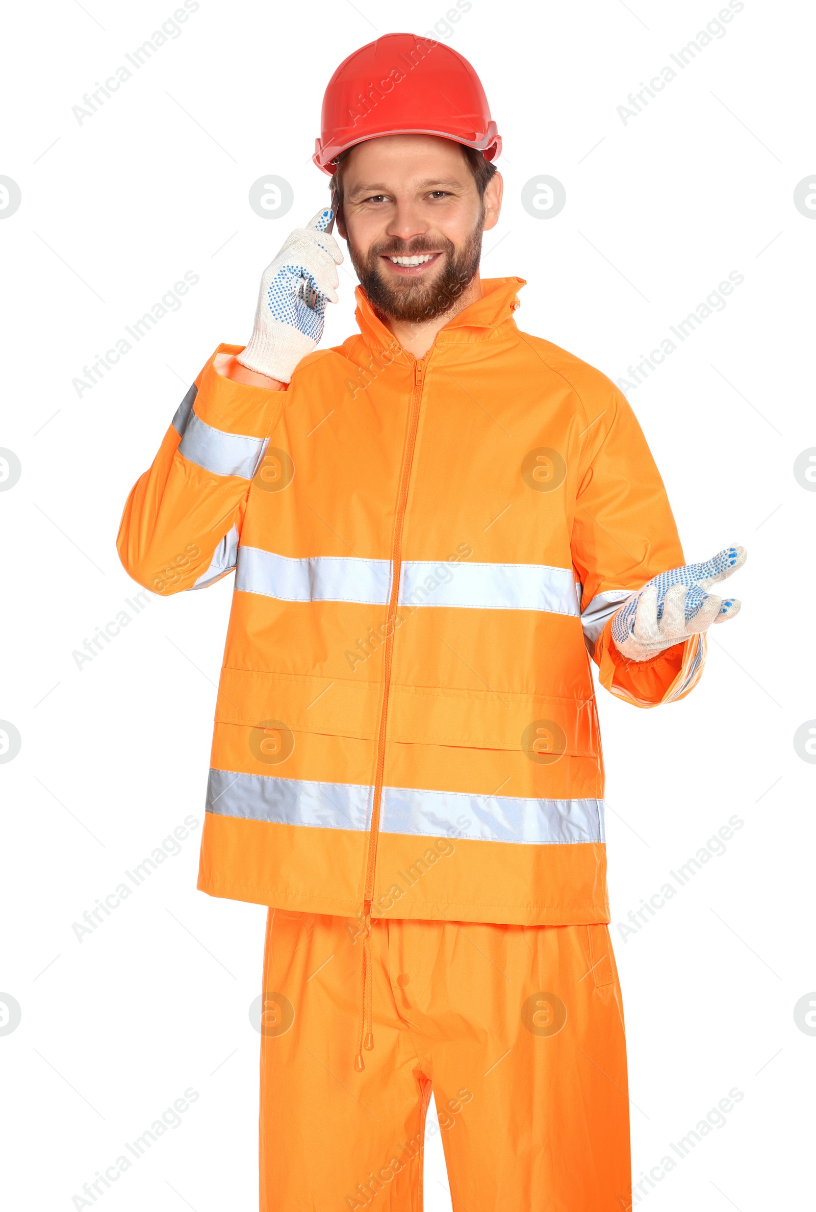
{"type": "MultiPolygon", "coordinates": [[[[250,821],[365,830],[373,788],[310,783],[267,774],[211,770],[207,812],[250,821]]],[[[563,845],[601,842],[603,800],[532,800],[509,795],[384,787],[380,829],[421,837],[563,845]]]]}

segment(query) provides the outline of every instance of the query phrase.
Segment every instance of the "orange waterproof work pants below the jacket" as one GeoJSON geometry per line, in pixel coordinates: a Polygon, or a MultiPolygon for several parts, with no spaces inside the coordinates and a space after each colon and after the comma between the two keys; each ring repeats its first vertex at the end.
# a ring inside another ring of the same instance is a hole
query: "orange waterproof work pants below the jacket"
{"type": "Polygon", "coordinates": [[[261,1212],[422,1212],[432,1090],[455,1212],[628,1208],[606,926],[380,919],[369,943],[373,1047],[360,1073],[359,924],[269,910],[261,1212]]]}

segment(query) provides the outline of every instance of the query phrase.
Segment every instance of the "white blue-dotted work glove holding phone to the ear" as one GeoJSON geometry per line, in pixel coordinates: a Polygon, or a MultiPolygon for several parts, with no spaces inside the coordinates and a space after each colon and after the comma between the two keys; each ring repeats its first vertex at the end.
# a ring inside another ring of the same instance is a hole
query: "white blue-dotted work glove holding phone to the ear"
{"type": "Polygon", "coordinates": [[[326,303],[337,302],[337,269],[343,253],[329,235],[335,212],[318,211],[296,228],[261,279],[250,343],[238,361],[251,371],[289,383],[302,358],[323,337],[326,303]],[[313,304],[313,305],[310,305],[313,304]]]}

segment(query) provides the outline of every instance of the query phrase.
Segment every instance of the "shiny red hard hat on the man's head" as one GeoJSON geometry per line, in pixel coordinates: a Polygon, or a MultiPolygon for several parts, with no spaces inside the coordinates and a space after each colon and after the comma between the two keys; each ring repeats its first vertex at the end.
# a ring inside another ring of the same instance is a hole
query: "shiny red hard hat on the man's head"
{"type": "Polygon", "coordinates": [[[502,150],[468,61],[417,34],[386,34],[341,63],[323,98],[312,159],[332,175],[341,152],[383,135],[439,135],[483,152],[485,160],[502,150]]]}

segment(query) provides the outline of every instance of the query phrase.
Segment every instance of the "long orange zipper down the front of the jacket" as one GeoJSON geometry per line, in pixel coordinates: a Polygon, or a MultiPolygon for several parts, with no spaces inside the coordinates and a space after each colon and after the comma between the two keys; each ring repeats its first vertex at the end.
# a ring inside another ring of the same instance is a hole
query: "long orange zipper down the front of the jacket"
{"type": "Polygon", "coordinates": [[[420,404],[422,401],[422,388],[424,384],[426,361],[423,358],[413,364],[413,391],[411,394],[411,407],[409,411],[407,436],[405,440],[405,459],[403,462],[403,475],[400,478],[399,494],[396,497],[396,519],[394,522],[394,544],[392,549],[393,579],[390,587],[390,599],[388,601],[388,614],[386,617],[386,647],[383,651],[383,698],[380,713],[380,732],[377,736],[377,768],[373,783],[373,805],[371,808],[371,829],[369,831],[369,861],[366,864],[365,890],[364,890],[364,915],[371,911],[373,901],[373,881],[377,865],[377,842],[380,839],[380,808],[382,804],[383,772],[386,767],[386,725],[388,721],[388,696],[390,691],[390,667],[394,653],[394,618],[399,604],[399,588],[403,579],[403,527],[405,525],[405,507],[407,504],[407,492],[411,481],[411,467],[413,464],[413,448],[416,446],[417,428],[420,424],[420,404]]]}

